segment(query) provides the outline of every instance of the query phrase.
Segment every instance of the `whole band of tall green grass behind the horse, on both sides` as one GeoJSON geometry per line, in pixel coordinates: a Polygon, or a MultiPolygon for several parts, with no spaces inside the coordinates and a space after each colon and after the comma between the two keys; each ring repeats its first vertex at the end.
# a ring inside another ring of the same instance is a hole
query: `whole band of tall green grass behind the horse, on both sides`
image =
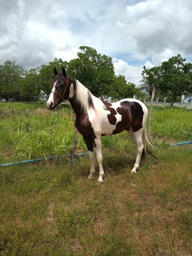
{"type": "MultiPolygon", "coordinates": [[[[0,150],[4,156],[30,159],[61,156],[70,152],[74,140],[74,123],[68,105],[49,111],[45,103],[0,104],[0,150]]],[[[192,112],[183,108],[154,108],[153,137],[170,141],[192,140],[192,112]],[[173,122],[174,121],[174,122],[173,122]]],[[[120,143],[130,148],[127,133],[103,137],[105,148],[115,148],[120,143]]],[[[79,134],[77,151],[86,150],[79,134]]]]}

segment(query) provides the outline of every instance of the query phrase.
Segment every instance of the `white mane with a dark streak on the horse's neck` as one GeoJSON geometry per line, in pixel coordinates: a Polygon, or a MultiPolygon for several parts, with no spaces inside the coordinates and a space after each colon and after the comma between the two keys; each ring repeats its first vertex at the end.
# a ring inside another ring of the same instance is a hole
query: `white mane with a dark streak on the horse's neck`
{"type": "Polygon", "coordinates": [[[82,83],[76,79],[72,79],[74,96],[76,102],[81,106],[83,112],[93,109],[94,111],[99,110],[99,108],[106,109],[106,106],[103,102],[95,97],[89,89],[87,89],[82,83]]]}

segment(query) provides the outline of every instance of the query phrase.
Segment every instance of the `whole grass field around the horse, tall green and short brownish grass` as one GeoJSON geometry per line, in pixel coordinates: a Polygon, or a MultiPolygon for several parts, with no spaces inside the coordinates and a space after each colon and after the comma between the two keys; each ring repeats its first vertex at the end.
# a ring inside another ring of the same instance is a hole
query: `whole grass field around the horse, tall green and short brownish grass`
{"type": "MultiPolygon", "coordinates": [[[[0,164],[70,152],[68,106],[0,103],[0,164]]],[[[104,183],[89,157],[0,167],[0,255],[192,255],[192,111],[154,108],[155,160],[130,171],[126,133],[103,137],[104,183]],[[158,148],[157,148],[158,147],[158,148]]],[[[81,136],[76,153],[86,153],[81,136]]],[[[96,162],[96,161],[95,161],[96,162]]]]}

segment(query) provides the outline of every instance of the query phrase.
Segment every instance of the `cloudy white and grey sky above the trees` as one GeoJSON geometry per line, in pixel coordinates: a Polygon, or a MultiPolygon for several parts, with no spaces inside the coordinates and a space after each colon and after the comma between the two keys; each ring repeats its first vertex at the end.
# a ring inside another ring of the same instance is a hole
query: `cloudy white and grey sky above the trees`
{"type": "Polygon", "coordinates": [[[148,68],[181,54],[192,62],[191,0],[0,0],[0,65],[27,69],[79,46],[113,58],[116,74],[138,84],[148,68]]]}

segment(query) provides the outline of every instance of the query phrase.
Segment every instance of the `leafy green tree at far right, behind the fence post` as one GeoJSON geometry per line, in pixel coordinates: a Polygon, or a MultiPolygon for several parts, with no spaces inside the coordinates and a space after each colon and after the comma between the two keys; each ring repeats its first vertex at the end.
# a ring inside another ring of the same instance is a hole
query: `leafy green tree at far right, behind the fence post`
{"type": "MultiPolygon", "coordinates": [[[[168,97],[171,101],[177,101],[181,95],[192,93],[192,64],[185,63],[181,55],[162,62],[158,67],[147,69],[143,67],[142,76],[146,85],[146,91],[151,94],[153,86],[159,97],[168,97]]],[[[142,90],[144,87],[142,87],[142,90]]]]}

